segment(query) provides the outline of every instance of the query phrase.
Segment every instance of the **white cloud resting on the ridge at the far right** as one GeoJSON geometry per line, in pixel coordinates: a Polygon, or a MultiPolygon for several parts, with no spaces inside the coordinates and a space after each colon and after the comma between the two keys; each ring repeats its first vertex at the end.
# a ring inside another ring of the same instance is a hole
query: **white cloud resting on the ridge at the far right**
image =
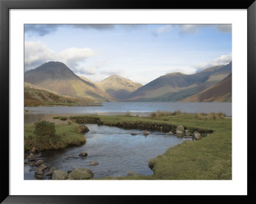
{"type": "Polygon", "coordinates": [[[223,54],[219,58],[212,59],[211,61],[205,61],[204,63],[200,63],[199,65],[196,65],[196,72],[200,72],[201,70],[204,70],[205,68],[214,67],[218,65],[227,65],[232,61],[232,54],[223,54]]]}

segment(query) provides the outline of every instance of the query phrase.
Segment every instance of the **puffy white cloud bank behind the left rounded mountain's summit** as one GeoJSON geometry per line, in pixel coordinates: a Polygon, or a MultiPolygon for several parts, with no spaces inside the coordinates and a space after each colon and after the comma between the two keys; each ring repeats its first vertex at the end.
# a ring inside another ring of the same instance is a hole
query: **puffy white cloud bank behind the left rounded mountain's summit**
{"type": "Polygon", "coordinates": [[[87,47],[71,47],[60,52],[54,52],[43,42],[25,42],[25,71],[36,68],[47,61],[60,61],[72,68],[73,71],[83,73],[84,67],[80,63],[84,63],[87,58],[96,54],[87,47]]]}

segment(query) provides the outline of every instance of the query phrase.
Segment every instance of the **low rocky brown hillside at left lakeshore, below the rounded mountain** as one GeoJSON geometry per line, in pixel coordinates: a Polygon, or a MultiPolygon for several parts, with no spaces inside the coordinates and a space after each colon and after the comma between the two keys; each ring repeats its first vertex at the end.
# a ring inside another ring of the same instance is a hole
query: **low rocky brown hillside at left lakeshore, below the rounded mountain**
{"type": "Polygon", "coordinates": [[[63,97],[49,91],[24,88],[24,106],[99,106],[91,99],[63,97]]]}

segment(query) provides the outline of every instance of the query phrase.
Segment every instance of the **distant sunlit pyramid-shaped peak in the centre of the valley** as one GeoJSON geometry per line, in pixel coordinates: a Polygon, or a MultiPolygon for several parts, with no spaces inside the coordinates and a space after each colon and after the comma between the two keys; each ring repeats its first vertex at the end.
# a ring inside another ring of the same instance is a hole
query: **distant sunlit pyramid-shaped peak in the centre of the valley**
{"type": "Polygon", "coordinates": [[[95,84],[106,91],[106,93],[111,97],[118,100],[127,98],[128,95],[142,86],[142,84],[120,77],[119,75],[111,75],[103,81],[96,82],[95,84]]]}

